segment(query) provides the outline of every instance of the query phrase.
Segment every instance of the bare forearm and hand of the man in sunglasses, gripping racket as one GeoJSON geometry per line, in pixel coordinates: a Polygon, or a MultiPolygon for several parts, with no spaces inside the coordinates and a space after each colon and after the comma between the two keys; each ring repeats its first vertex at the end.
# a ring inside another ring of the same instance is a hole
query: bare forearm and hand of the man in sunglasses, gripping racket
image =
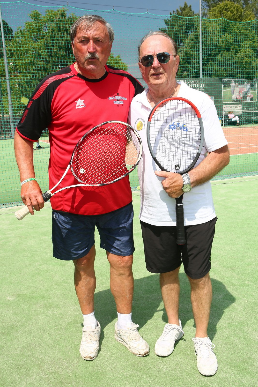
{"type": "MultiPolygon", "coordinates": [[[[203,184],[215,176],[229,163],[229,149],[227,145],[210,152],[208,156],[193,170],[189,172],[191,186],[203,184]]],[[[179,197],[183,194],[183,178],[179,173],[155,171],[157,176],[162,176],[164,190],[170,197],[179,197]]]]}

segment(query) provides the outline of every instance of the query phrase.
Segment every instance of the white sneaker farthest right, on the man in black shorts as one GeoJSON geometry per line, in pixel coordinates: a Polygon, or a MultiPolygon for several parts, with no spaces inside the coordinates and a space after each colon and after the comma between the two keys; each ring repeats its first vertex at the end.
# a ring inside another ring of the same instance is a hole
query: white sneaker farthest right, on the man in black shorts
{"type": "Polygon", "coordinates": [[[208,337],[194,337],[193,344],[197,356],[198,371],[205,376],[214,375],[218,369],[218,362],[213,352],[215,345],[208,337]]]}

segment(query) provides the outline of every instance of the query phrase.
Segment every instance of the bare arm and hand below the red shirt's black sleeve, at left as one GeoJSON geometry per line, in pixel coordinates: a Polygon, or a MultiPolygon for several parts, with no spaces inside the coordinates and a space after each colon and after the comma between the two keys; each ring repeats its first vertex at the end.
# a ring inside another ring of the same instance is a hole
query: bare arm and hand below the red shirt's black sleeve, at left
{"type": "MultiPolygon", "coordinates": [[[[17,165],[20,171],[21,182],[35,177],[33,165],[33,142],[22,138],[17,132],[14,135],[14,150],[17,165]]],[[[21,198],[33,215],[33,207],[39,211],[44,207],[42,191],[35,180],[24,183],[21,187],[21,198]],[[33,206],[33,207],[32,207],[33,206]]]]}

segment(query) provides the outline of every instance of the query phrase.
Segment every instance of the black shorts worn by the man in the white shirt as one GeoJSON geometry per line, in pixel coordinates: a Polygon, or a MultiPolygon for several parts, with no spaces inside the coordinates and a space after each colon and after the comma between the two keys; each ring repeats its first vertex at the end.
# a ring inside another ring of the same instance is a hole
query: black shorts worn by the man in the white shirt
{"type": "Polygon", "coordinates": [[[204,277],[211,268],[216,221],[217,217],[206,223],[185,226],[186,244],[181,246],[176,243],[176,227],[153,226],[140,221],[147,270],[167,273],[183,262],[185,273],[190,278],[204,277]]]}

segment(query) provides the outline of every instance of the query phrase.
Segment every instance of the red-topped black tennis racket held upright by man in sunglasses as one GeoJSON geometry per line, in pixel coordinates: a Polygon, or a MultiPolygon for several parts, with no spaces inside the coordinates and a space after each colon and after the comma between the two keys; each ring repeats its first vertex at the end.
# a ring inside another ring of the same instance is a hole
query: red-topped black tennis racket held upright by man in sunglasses
{"type": "MultiPolygon", "coordinates": [[[[171,97],[157,103],[150,112],[147,142],[161,171],[189,172],[203,146],[203,123],[196,106],[185,98],[171,97]]],[[[183,195],[176,198],[176,243],[184,245],[183,195]]]]}

